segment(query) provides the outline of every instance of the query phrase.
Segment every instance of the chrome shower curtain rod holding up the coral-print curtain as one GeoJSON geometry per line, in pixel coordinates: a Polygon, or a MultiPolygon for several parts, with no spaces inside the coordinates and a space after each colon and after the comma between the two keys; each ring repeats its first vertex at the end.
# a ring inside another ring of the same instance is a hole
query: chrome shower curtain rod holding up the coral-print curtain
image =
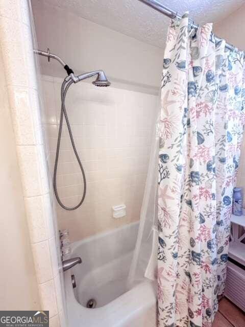
{"type": "MultiPolygon", "coordinates": [[[[144,3],[145,5],[148,5],[149,7],[159,11],[160,13],[164,14],[165,16],[169,17],[169,18],[178,18],[181,19],[182,16],[180,14],[178,14],[178,12],[173,11],[169,8],[167,8],[166,6],[164,6],[163,4],[161,4],[160,2],[156,1],[156,0],[139,0],[140,2],[144,3]]],[[[198,29],[198,25],[194,24],[194,22],[191,25],[192,28],[194,29],[198,29]]],[[[214,36],[215,41],[220,41],[223,40],[222,38],[219,38],[217,36],[214,36]]],[[[226,48],[233,51],[233,50],[237,50],[237,48],[229,43],[226,43],[226,48]]]]}

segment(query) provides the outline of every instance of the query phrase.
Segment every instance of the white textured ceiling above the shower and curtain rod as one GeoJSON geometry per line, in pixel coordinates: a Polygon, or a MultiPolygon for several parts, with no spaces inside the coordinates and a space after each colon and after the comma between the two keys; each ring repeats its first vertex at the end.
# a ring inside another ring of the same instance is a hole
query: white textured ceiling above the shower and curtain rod
{"type": "MultiPolygon", "coordinates": [[[[35,0],[37,1],[37,0],[35,0]]],[[[189,11],[197,24],[217,22],[244,0],[158,0],[179,14],[189,11]]],[[[75,14],[143,42],[164,48],[169,18],[138,0],[46,0],[75,14]]]]}

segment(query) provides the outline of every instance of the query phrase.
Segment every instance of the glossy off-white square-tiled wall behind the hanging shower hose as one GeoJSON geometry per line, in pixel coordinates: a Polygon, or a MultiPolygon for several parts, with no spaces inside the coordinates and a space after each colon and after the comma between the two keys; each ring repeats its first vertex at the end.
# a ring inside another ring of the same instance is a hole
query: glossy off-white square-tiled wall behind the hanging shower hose
{"type": "MultiPolygon", "coordinates": [[[[53,174],[60,118],[62,79],[43,76],[43,124],[53,174]]],[[[59,227],[72,241],[139,219],[148,169],[157,97],[142,92],[98,88],[87,82],[71,85],[66,109],[87,178],[84,203],[76,211],[57,204],[59,227]],[[113,205],[125,203],[127,216],[115,220],[113,205]]],[[[62,202],[74,206],[83,192],[82,174],[71,150],[66,124],[62,132],[57,176],[62,202]]]]}

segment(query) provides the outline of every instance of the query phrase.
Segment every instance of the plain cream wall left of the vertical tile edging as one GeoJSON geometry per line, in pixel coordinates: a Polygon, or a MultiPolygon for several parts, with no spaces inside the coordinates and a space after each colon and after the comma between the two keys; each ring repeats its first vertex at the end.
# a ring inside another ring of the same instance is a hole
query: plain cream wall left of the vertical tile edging
{"type": "Polygon", "coordinates": [[[37,279],[29,239],[7,85],[0,51],[0,310],[38,310],[37,279]]]}

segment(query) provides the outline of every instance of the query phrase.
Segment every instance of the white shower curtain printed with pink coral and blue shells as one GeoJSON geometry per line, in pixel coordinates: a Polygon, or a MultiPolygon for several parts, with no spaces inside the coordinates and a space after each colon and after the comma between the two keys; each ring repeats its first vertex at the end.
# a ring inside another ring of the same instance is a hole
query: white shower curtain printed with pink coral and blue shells
{"type": "Polygon", "coordinates": [[[211,327],[225,288],[232,191],[244,124],[243,53],[188,17],[168,30],[163,60],[158,323],[211,327]]]}

